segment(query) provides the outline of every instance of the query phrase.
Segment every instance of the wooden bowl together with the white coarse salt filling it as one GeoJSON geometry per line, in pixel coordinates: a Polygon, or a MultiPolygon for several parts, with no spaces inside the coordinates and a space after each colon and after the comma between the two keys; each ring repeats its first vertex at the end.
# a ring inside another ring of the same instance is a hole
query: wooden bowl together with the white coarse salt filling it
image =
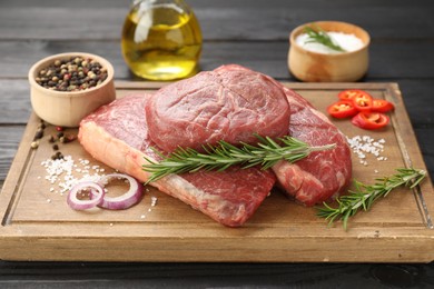
{"type": "Polygon", "coordinates": [[[346,22],[317,21],[299,26],[289,37],[288,69],[306,82],[357,81],[367,72],[369,41],[364,29],[346,22]],[[345,51],[309,42],[306,27],[324,30],[345,51]]]}

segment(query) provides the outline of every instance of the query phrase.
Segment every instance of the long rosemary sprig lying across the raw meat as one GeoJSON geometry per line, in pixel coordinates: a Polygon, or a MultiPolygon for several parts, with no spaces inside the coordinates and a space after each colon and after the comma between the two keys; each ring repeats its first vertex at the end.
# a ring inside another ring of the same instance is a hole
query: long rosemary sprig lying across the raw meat
{"type": "Polygon", "coordinates": [[[221,140],[217,146],[203,146],[205,153],[191,148],[178,148],[168,156],[157,151],[162,158],[160,162],[145,157],[149,163],[144,165],[142,168],[145,171],[151,172],[147,183],[170,173],[195,172],[200,169],[223,171],[234,165],[240,165],[243,168],[259,165],[262,169],[266,170],[279,160],[295,162],[306,158],[313,151],[336,147],[335,143],[310,147],[306,142],[288,136],[279,138],[277,141],[268,137],[255,136],[259,140],[257,146],[240,142],[241,147],[236,147],[221,140]]]}

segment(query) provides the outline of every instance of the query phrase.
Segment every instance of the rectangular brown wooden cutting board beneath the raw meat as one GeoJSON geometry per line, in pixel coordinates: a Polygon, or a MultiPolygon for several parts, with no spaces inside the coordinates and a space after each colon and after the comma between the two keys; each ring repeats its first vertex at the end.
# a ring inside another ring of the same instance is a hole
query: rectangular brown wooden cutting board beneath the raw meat
{"type": "MultiPolygon", "coordinates": [[[[286,83],[318,110],[337,99],[338,91],[358,88],[392,101],[396,110],[386,130],[357,129],[348,120],[334,120],[349,138],[384,139],[378,160],[367,156],[362,165],[353,153],[354,178],[373,183],[395,168],[426,169],[403,99],[395,83],[286,83]]],[[[155,91],[161,83],[118,82],[118,97],[155,91]]],[[[254,262],[430,262],[434,260],[434,192],[430,178],[420,190],[397,189],[369,212],[361,212],[345,231],[341,222],[327,226],[314,208],[305,208],[273,191],[241,228],[226,228],[189,206],[151,187],[128,210],[75,211],[59,192],[59,182],[45,179],[41,166],[53,153],[49,126],[38,149],[30,143],[40,120],[31,116],[0,195],[0,259],[61,261],[254,261],[254,262]],[[152,206],[152,199],[157,200],[152,206]]],[[[76,129],[66,133],[77,134],[76,129]]],[[[73,141],[60,146],[89,160],[89,170],[105,168],[73,141]]],[[[81,167],[80,167],[81,166],[81,167]]],[[[80,178],[77,171],[73,175],[80,178]]],[[[120,188],[122,189],[122,188],[120,188]]]]}

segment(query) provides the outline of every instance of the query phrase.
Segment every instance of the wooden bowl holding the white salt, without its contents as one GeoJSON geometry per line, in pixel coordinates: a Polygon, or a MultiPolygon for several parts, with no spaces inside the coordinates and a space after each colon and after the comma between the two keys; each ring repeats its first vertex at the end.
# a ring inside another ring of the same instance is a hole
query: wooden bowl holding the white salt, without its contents
{"type": "Polygon", "coordinates": [[[362,28],[337,21],[310,22],[294,29],[289,37],[288,68],[299,80],[306,82],[351,82],[359,80],[368,68],[369,34],[362,28]],[[354,34],[363,47],[352,52],[319,53],[304,49],[296,38],[304,33],[304,28],[319,27],[329,32],[354,34]]]}

